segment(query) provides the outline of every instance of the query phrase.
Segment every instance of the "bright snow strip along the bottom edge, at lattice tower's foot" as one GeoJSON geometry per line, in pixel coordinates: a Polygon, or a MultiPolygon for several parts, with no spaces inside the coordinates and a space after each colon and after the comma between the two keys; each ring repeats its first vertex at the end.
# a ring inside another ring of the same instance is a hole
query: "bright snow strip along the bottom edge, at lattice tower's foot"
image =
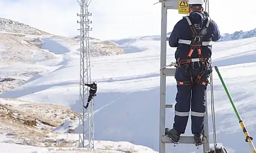
{"type": "MultiPolygon", "coordinates": [[[[64,139],[65,136],[56,137],[56,139],[64,139]]],[[[78,137],[76,135],[76,137],[78,137]]],[[[70,138],[69,138],[70,139],[70,138]]],[[[0,137],[1,140],[1,137],[0,137]]],[[[17,145],[11,143],[0,143],[0,152],[3,153],[157,153],[145,146],[133,145],[129,142],[109,142],[109,141],[94,141],[94,150],[85,148],[62,148],[62,147],[38,147],[17,145]]]]}

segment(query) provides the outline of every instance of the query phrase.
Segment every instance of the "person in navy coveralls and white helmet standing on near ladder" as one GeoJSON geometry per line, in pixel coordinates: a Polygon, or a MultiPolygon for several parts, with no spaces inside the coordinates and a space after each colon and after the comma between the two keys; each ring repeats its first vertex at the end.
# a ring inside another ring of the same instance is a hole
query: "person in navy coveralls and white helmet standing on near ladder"
{"type": "Polygon", "coordinates": [[[177,68],[177,95],[173,128],[165,129],[166,136],[178,143],[180,134],[184,134],[190,112],[191,130],[195,145],[201,145],[206,112],[205,91],[208,85],[212,65],[212,41],[221,38],[218,25],[204,12],[203,0],[189,0],[189,16],[176,23],[169,37],[169,46],[177,47],[175,59],[177,68]]]}

